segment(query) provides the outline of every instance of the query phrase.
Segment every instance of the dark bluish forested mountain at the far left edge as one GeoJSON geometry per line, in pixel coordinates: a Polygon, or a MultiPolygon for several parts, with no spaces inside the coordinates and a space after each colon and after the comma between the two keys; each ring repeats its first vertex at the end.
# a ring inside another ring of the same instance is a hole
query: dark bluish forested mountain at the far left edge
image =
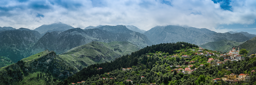
{"type": "Polygon", "coordinates": [[[40,37],[39,32],[26,28],[0,31],[0,56],[8,57],[13,62],[26,58],[40,37]]]}

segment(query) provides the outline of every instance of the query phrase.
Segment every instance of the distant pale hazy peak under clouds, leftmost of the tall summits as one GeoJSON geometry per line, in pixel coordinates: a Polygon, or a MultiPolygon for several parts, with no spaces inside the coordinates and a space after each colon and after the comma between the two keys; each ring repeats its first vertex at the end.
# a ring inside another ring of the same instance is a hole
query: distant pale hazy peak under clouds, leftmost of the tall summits
{"type": "Polygon", "coordinates": [[[66,31],[69,29],[73,29],[74,27],[69,26],[65,23],[62,22],[56,22],[56,23],[52,23],[52,24],[45,24],[42,25],[36,29],[34,29],[35,31],[38,31],[41,35],[44,35],[46,32],[53,32],[53,31],[66,31]]]}

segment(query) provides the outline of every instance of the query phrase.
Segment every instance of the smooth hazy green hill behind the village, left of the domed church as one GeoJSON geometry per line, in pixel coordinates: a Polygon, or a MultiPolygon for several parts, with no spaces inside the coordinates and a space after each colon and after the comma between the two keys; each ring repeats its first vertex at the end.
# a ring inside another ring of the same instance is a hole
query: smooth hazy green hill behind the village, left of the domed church
{"type": "Polygon", "coordinates": [[[236,41],[230,41],[230,40],[221,40],[217,42],[208,42],[205,44],[200,45],[199,47],[202,47],[204,49],[213,50],[213,51],[223,51],[228,52],[232,47],[238,46],[242,44],[243,42],[236,42],[236,41]]]}

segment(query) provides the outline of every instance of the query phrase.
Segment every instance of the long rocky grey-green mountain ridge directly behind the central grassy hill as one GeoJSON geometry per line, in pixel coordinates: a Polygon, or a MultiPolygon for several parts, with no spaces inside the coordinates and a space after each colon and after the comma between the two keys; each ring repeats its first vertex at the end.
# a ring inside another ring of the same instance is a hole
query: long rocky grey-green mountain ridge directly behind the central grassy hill
{"type": "MultiPolygon", "coordinates": [[[[102,28],[127,29],[125,26],[102,26],[102,28]]],[[[57,54],[61,54],[71,48],[84,45],[92,41],[105,43],[113,41],[128,41],[140,47],[145,47],[151,44],[144,34],[134,32],[129,29],[123,31],[105,31],[100,29],[82,30],[80,28],[74,28],[61,32],[60,34],[57,32],[47,32],[33,46],[30,55],[46,49],[53,50],[57,54]]]]}

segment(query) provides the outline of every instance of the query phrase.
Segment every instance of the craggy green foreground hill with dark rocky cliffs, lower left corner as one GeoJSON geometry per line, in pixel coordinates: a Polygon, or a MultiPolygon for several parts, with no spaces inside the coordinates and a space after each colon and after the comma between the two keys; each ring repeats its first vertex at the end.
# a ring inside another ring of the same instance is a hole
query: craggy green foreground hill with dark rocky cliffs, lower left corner
{"type": "Polygon", "coordinates": [[[79,71],[71,64],[54,51],[45,50],[0,68],[0,84],[54,84],[79,71]]]}

